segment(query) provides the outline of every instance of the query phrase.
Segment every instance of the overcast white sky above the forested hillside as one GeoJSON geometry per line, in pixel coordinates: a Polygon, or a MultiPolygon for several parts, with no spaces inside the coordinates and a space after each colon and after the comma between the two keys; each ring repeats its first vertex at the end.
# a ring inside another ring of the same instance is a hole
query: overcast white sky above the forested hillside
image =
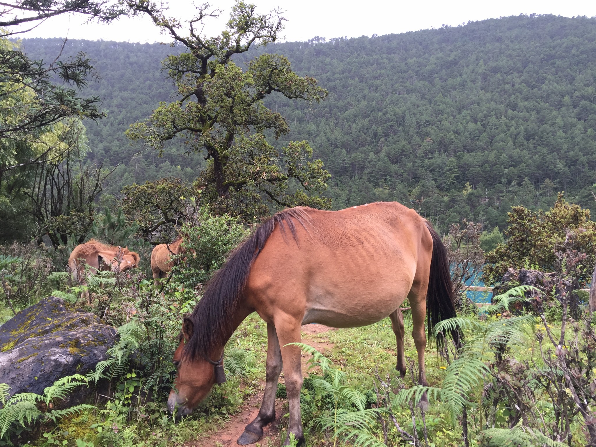
{"type": "MultiPolygon", "coordinates": [[[[201,2],[198,0],[198,2],[201,2]]],[[[555,14],[596,16],[594,0],[423,0],[396,2],[386,0],[254,0],[259,11],[268,12],[275,7],[285,11],[288,21],[283,35],[287,41],[305,41],[314,36],[336,38],[384,35],[439,28],[442,24],[458,24],[517,14],[555,14]]],[[[194,7],[191,1],[170,0],[171,14],[191,18],[194,7]]],[[[202,2],[201,2],[202,3],[202,2]]],[[[218,20],[211,20],[205,31],[208,35],[219,33],[228,18],[234,0],[213,1],[224,11],[218,20]]],[[[69,15],[55,17],[36,29],[22,34],[25,38],[61,37],[70,39],[104,39],[130,42],[169,41],[145,17],[123,18],[112,24],[86,23],[84,17],[69,15]]]]}

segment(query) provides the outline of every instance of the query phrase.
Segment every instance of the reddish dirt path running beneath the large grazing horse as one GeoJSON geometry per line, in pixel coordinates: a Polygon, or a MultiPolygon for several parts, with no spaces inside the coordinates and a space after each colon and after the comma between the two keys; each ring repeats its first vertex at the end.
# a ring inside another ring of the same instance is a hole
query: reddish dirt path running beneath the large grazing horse
{"type": "MultiPolygon", "coordinates": [[[[308,324],[302,327],[302,343],[309,344],[319,352],[325,354],[333,349],[333,343],[326,343],[319,341],[318,334],[324,334],[327,331],[332,331],[333,328],[321,324],[308,324]]],[[[306,375],[306,362],[311,358],[310,355],[302,354],[302,373],[306,375]]],[[[280,382],[283,382],[283,373],[280,382]]],[[[261,384],[261,388],[265,382],[261,384]]],[[[209,434],[195,441],[185,444],[185,446],[200,446],[200,447],[234,447],[238,436],[244,432],[244,427],[249,424],[259,413],[260,403],[263,400],[263,391],[255,393],[250,399],[244,403],[239,412],[233,415],[228,423],[217,432],[209,434]]],[[[259,444],[262,446],[279,445],[280,444],[280,429],[281,419],[284,414],[288,412],[288,405],[285,399],[277,399],[275,401],[275,415],[277,420],[269,424],[263,429],[263,437],[259,444]]]]}

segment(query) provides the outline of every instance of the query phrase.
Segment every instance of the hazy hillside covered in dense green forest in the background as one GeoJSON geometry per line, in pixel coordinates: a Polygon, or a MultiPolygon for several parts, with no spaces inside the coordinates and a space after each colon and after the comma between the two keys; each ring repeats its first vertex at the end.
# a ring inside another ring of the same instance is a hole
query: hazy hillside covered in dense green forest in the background
{"type": "MultiPolygon", "coordinates": [[[[53,60],[57,39],[26,39],[31,57],[53,60]]],[[[132,157],[123,131],[167,100],[159,61],[168,45],[69,41],[87,52],[101,80],[107,119],[86,123],[91,158],[124,163],[108,190],[132,181],[200,171],[174,141],[163,159],[132,157]],[[131,158],[132,157],[132,158],[131,158]],[[180,166],[178,168],[177,166],[180,166]]],[[[554,203],[557,191],[590,206],[596,182],[596,19],[505,17],[466,26],[325,42],[287,42],[300,75],[330,92],[309,105],[272,97],[291,132],[308,139],[333,175],[334,208],[398,200],[439,222],[472,218],[504,226],[511,205],[554,203]]],[[[253,57],[248,54],[246,58],[253,57]]]]}

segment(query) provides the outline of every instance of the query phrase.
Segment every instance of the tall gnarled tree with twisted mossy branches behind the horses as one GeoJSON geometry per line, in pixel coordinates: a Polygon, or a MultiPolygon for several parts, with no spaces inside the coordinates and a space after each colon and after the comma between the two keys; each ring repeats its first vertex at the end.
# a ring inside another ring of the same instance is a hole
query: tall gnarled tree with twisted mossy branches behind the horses
{"type": "Polygon", "coordinates": [[[280,11],[257,14],[254,5],[239,1],[221,35],[206,38],[200,33],[203,20],[219,14],[208,4],[197,7],[187,35],[180,21],[166,17],[156,4],[135,0],[129,5],[148,14],[187,51],[164,61],[178,100],[160,103],[147,121],[131,125],[128,136],[160,151],[164,142],[181,136],[191,151],[206,153],[208,167],[199,180],[203,198],[245,218],[268,213],[266,201],[329,207],[330,200],[319,194],[330,175],[321,160],[311,160],[308,143],[290,142],[278,150],[263,134],[269,130],[277,139],[289,131],[284,117],[263,104],[266,95],[321,101],[327,91],[316,79],[296,75],[281,55],[262,54],[245,70],[233,60],[251,46],[275,42],[285,20],[280,11]]]}

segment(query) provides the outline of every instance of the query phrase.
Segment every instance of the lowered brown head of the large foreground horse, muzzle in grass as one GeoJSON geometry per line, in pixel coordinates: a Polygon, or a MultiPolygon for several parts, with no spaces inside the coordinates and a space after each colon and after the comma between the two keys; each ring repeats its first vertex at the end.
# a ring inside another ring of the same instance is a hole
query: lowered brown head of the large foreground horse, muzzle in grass
{"type": "Polygon", "coordinates": [[[185,343],[192,335],[193,322],[189,318],[185,318],[179,337],[180,343],[172,360],[178,370],[175,380],[178,393],[172,389],[167,399],[167,408],[170,412],[176,411],[178,416],[190,414],[193,408],[207,396],[216,381],[225,381],[225,375],[222,376],[224,373],[223,358],[218,362],[210,362],[204,358],[191,359],[190,355],[185,355],[185,343]],[[217,374],[218,368],[221,368],[219,374],[217,374]]]}

